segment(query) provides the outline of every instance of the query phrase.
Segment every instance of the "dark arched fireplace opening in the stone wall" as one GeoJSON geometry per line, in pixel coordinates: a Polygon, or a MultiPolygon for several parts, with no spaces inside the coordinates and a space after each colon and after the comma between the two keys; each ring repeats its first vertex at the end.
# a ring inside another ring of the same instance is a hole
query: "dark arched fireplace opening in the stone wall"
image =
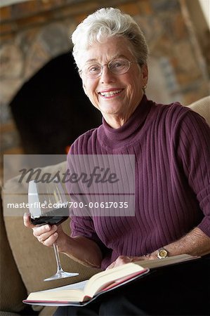
{"type": "Polygon", "coordinates": [[[65,154],[81,133],[101,124],[71,53],[54,58],[34,74],[10,106],[25,154],[65,154]]]}

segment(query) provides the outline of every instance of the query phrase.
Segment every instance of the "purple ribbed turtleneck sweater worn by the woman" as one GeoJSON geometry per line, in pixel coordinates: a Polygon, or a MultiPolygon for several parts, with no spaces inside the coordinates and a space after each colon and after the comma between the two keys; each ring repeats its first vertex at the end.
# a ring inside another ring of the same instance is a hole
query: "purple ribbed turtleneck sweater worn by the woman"
{"type": "Polygon", "coordinates": [[[210,237],[210,129],[199,114],[143,96],[122,127],[103,119],[70,154],[135,155],[135,216],[71,220],[72,236],[101,247],[103,269],[120,255],[150,254],[196,226],[210,237]]]}

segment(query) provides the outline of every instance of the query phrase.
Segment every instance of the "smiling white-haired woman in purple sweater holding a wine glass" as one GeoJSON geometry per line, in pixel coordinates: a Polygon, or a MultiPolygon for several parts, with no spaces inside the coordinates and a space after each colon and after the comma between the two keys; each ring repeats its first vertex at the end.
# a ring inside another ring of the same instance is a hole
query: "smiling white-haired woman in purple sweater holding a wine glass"
{"type": "Polygon", "coordinates": [[[192,291],[192,279],[198,282],[209,263],[209,126],[179,103],[147,100],[147,44],[131,16],[102,8],[81,22],[72,42],[84,91],[103,124],[80,136],[70,154],[134,154],[135,216],[74,216],[71,237],[57,226],[36,228],[29,216],[25,225],[44,245],[56,241],[67,256],[103,269],[178,254],[204,258],[140,279],[86,308],[58,308],[55,315],[204,315],[207,285],[192,291]],[[199,296],[203,305],[196,303],[199,296]]]}

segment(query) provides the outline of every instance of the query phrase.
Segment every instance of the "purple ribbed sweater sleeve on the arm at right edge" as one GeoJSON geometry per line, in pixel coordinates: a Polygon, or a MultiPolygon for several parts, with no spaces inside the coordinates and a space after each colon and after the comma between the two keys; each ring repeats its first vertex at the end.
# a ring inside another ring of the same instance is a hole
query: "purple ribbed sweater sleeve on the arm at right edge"
{"type": "Polygon", "coordinates": [[[178,159],[204,213],[197,227],[210,237],[210,127],[192,110],[185,109],[181,117],[178,159]]]}

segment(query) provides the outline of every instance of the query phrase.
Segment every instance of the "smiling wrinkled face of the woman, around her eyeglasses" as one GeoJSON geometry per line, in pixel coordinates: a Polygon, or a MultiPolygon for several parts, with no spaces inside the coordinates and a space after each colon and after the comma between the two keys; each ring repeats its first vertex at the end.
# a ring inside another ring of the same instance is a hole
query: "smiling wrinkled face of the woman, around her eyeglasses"
{"type": "Polygon", "coordinates": [[[103,117],[129,118],[143,97],[143,86],[147,84],[147,66],[142,68],[131,53],[131,44],[124,37],[110,37],[103,43],[93,44],[83,55],[84,62],[98,62],[107,65],[114,58],[126,58],[131,67],[126,74],[113,74],[107,66],[100,77],[90,79],[81,72],[86,95],[100,110],[103,117]],[[129,48],[130,47],[130,48],[129,48]]]}

